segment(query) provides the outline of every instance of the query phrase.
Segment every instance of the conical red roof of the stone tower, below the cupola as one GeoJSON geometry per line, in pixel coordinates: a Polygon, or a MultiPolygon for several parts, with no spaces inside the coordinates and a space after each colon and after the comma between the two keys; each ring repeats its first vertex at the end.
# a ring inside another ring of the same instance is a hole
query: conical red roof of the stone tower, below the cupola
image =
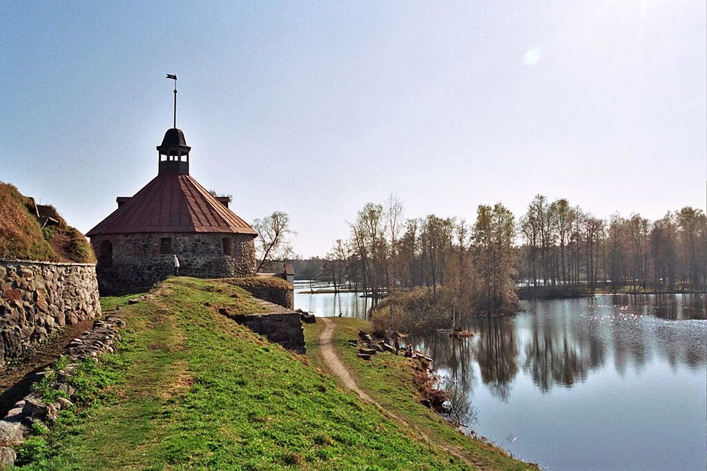
{"type": "Polygon", "coordinates": [[[136,232],[257,234],[189,174],[177,173],[153,178],[86,235],[136,232]]]}

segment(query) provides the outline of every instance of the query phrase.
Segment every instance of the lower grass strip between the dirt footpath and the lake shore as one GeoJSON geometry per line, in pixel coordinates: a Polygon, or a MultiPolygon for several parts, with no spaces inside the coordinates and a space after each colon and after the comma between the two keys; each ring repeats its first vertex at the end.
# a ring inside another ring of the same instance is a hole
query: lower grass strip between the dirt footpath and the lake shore
{"type": "MultiPolygon", "coordinates": [[[[358,337],[358,330],[370,330],[371,324],[354,318],[332,318],[337,323],[334,330],[334,349],[354,376],[358,386],[382,407],[398,415],[405,422],[423,431],[432,441],[455,450],[469,462],[483,469],[525,470],[537,469],[533,465],[511,458],[505,451],[480,438],[472,438],[453,429],[435,412],[421,405],[421,395],[414,382],[414,362],[402,355],[379,353],[369,361],[359,359],[356,347],[347,341],[358,337]]],[[[322,321],[305,324],[307,357],[326,369],[317,339],[325,327],[322,321]]]]}

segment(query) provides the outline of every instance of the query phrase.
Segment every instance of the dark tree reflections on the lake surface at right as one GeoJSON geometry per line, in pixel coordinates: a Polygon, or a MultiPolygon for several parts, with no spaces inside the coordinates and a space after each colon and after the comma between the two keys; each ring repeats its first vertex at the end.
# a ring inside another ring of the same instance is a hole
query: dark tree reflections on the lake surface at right
{"type": "Polygon", "coordinates": [[[474,318],[467,323],[477,333],[472,338],[436,333],[408,341],[469,398],[477,366],[481,382],[507,402],[519,367],[543,393],[572,388],[611,363],[621,377],[629,369],[640,373],[655,356],[673,367],[702,367],[707,329],[690,320],[696,318],[705,318],[703,295],[597,296],[540,301],[517,316],[474,318]],[[678,321],[664,321],[672,319],[678,321]]]}

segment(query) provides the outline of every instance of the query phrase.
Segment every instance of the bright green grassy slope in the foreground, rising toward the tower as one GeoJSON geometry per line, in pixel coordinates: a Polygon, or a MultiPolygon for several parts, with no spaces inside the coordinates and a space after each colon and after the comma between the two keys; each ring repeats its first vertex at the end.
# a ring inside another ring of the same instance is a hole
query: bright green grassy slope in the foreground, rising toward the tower
{"type": "MultiPolygon", "coordinates": [[[[107,314],[122,305],[119,350],[86,370],[78,410],[25,444],[23,469],[467,469],[307,359],[217,314],[259,309],[240,287],[170,278],[153,293],[103,300],[107,314]]],[[[520,467],[477,448],[484,463],[520,467]]]]}

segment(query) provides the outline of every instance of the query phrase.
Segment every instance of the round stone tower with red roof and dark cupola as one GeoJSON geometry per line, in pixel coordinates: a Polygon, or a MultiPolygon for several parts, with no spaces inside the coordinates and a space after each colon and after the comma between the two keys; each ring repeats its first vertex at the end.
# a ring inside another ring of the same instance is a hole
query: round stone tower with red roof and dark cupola
{"type": "Polygon", "coordinates": [[[257,233],[189,175],[184,133],[168,129],[158,150],[158,174],[86,234],[98,258],[102,293],[151,287],[174,271],[224,278],[255,273],[257,233]]]}

